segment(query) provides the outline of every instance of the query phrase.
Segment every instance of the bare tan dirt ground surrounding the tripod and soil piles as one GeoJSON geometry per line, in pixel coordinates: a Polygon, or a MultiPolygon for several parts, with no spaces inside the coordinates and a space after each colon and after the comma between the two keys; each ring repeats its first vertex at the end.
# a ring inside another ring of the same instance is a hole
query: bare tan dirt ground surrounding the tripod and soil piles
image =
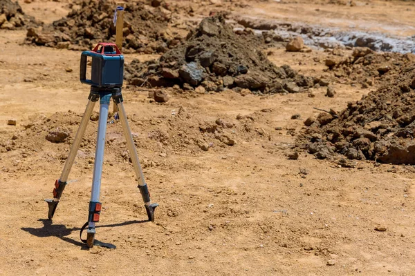
{"type": "MultiPolygon", "coordinates": [[[[250,10],[233,12],[415,34],[409,2],[309,2],[249,1],[250,10]]],[[[21,6],[50,23],[66,14],[67,3],[21,6]]],[[[124,89],[151,199],[160,207],[154,223],[145,221],[122,128],[109,124],[96,238],[117,249],[86,248],[79,233],[89,204],[96,121],[53,222],[43,201],[52,197],[89,95],[79,81],[80,52],[23,45],[25,37],[25,30],[0,30],[0,275],[414,275],[414,166],[356,161],[356,168],[341,168],[306,152],[297,160],[286,157],[304,119],[319,113],[314,107],[342,110],[374,89],[342,83],[333,83],[333,98],[322,87],[311,88],[315,97],[172,93],[163,104],[149,99],[146,89],[124,89]],[[296,113],[301,117],[291,119],[296,113]],[[17,126],[8,126],[9,119],[17,126]],[[236,144],[210,135],[212,126],[236,144]],[[66,142],[45,139],[56,128],[71,133],[66,142]],[[200,139],[208,141],[208,151],[197,146],[200,139]]],[[[326,66],[315,60],[326,55],[273,49],[268,58],[318,77],[326,66]]],[[[125,55],[127,62],[155,57],[125,55]]]]}

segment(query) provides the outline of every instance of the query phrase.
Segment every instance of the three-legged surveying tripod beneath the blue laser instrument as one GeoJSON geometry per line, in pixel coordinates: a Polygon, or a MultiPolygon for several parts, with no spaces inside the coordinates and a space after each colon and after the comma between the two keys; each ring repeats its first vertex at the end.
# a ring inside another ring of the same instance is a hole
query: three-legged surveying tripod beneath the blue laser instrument
{"type": "MultiPolygon", "coordinates": [[[[87,238],[86,240],[82,240],[82,242],[86,242],[89,248],[92,248],[94,245],[108,245],[95,240],[95,223],[100,220],[102,206],[100,202],[100,188],[102,177],[102,164],[104,162],[105,133],[107,130],[107,117],[109,110],[109,102],[111,101],[111,98],[113,99],[113,102],[116,105],[118,112],[120,113],[119,115],[122,124],[122,130],[124,131],[125,138],[127,139],[127,147],[131,155],[133,167],[138,179],[138,188],[140,190],[142,200],[145,203],[145,209],[147,210],[147,216],[149,218],[149,221],[154,221],[154,209],[158,206],[158,204],[156,203],[151,203],[149,190],[147,188],[147,184],[145,183],[144,176],[142,175],[142,168],[140,166],[140,161],[138,160],[136,147],[134,145],[131,130],[127,122],[127,115],[124,110],[124,105],[122,104],[123,99],[121,94],[121,88],[99,88],[98,86],[91,86],[91,92],[88,97],[89,101],[86,105],[86,109],[84,112],[84,116],[82,117],[80,127],[77,130],[71,151],[69,152],[68,158],[66,159],[64,169],[62,170],[62,175],[55,182],[55,188],[53,189],[53,199],[45,199],[45,201],[48,203],[49,208],[48,218],[52,219],[53,215],[55,215],[57,204],[59,204],[59,200],[62,197],[62,193],[64,192],[64,189],[66,187],[69,172],[71,172],[73,162],[75,161],[75,157],[77,155],[77,150],[80,148],[80,143],[82,141],[82,137],[84,136],[86,126],[92,115],[95,103],[98,100],[100,100],[100,119],[98,121],[97,146],[95,150],[95,162],[93,166],[91,201],[89,201],[88,222],[82,227],[83,230],[86,226],[88,226],[88,230],[86,232],[87,238]]],[[[112,246],[111,244],[109,245],[112,246]]],[[[112,248],[115,248],[115,246],[113,246],[112,248]]]]}

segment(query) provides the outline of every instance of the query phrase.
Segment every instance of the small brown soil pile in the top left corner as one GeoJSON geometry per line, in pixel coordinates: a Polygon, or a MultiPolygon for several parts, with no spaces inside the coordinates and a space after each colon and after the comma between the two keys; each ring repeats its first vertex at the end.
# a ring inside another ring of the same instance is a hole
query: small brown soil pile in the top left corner
{"type": "Polygon", "coordinates": [[[0,29],[15,30],[36,24],[33,17],[24,14],[19,3],[10,0],[0,0],[0,29]]]}

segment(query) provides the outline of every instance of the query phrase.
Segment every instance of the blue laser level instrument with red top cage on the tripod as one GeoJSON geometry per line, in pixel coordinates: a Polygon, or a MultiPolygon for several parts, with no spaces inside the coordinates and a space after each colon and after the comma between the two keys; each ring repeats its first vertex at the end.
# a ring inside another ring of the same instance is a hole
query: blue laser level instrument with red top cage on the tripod
{"type": "Polygon", "coordinates": [[[98,88],[121,88],[124,79],[124,56],[114,43],[98,43],[92,51],[81,54],[80,81],[98,88]],[[91,79],[86,79],[86,62],[92,57],[91,79]]]}

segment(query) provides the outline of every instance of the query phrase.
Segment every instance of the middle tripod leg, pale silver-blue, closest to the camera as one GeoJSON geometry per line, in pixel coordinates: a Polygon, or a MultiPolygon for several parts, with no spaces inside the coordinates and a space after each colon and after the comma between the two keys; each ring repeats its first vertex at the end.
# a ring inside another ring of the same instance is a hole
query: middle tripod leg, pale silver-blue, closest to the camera
{"type": "Polygon", "coordinates": [[[104,163],[105,132],[107,131],[107,118],[111,94],[100,95],[100,119],[98,121],[97,147],[93,165],[93,179],[91,201],[89,201],[87,244],[91,248],[95,239],[95,223],[100,221],[101,203],[100,189],[102,177],[102,164],[104,163]]]}

